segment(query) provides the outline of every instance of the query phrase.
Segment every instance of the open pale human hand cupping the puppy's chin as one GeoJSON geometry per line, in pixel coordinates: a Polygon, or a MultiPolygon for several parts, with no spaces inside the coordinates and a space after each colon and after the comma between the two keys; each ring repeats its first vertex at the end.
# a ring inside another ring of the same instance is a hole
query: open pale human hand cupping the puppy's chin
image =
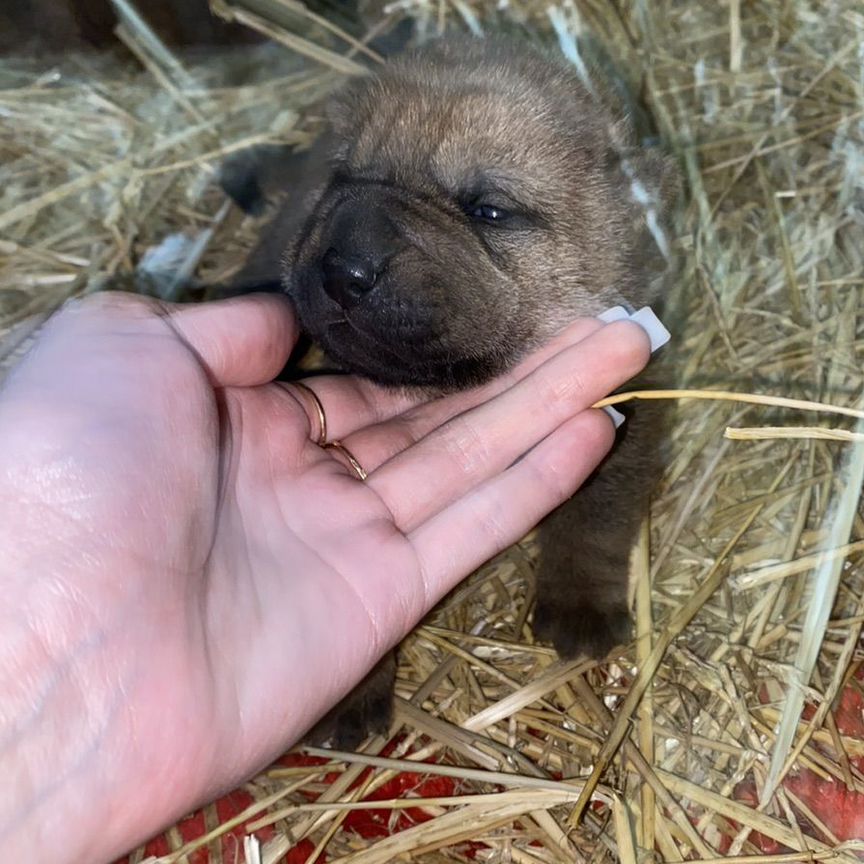
{"type": "Polygon", "coordinates": [[[270,383],[288,303],[68,304],[0,389],[0,850],[108,861],[295,742],[613,440],[647,362],[583,320],[432,401],[270,383]],[[518,461],[517,461],[518,460],[518,461]]]}

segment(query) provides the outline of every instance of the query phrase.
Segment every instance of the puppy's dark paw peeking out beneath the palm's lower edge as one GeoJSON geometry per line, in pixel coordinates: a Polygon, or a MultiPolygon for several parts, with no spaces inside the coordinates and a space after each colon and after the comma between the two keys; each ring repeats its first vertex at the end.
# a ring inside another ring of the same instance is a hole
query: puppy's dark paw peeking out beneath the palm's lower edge
{"type": "Polygon", "coordinates": [[[356,750],[370,735],[386,735],[393,719],[396,660],[388,653],[378,665],[306,735],[308,744],[356,750]]]}

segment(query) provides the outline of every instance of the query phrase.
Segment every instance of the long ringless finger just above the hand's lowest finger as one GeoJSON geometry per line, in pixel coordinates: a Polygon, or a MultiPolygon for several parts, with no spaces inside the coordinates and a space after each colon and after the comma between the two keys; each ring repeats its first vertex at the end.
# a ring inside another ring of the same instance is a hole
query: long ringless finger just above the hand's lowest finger
{"type": "Polygon", "coordinates": [[[399,528],[412,531],[633,377],[650,350],[637,324],[610,324],[370,472],[368,483],[399,528]]]}

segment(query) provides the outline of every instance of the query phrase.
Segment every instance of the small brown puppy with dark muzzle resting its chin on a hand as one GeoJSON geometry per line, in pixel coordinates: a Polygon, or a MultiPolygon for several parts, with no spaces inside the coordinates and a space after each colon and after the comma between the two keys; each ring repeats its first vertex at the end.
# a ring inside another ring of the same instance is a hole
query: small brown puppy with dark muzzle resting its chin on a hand
{"type": "MultiPolygon", "coordinates": [[[[524,47],[467,39],[353,80],[306,164],[283,163],[275,185],[293,174],[305,189],[239,282],[280,285],[346,371],[427,392],[487,381],[577,317],[656,305],[676,175],[598,86],[524,47]]],[[[534,630],[564,657],[628,638],[628,559],[659,434],[640,406],[541,527],[534,630]]],[[[384,728],[392,680],[390,658],[315,737],[353,746],[384,728]]]]}

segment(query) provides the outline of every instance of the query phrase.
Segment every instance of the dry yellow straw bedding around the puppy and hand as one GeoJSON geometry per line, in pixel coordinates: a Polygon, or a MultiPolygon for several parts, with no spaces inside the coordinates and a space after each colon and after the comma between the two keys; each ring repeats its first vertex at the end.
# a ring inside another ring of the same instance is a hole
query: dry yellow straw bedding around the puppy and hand
{"type": "MultiPolygon", "coordinates": [[[[515,22],[571,56],[602,46],[688,181],[667,316],[680,386],[864,407],[856,2],[404,0],[391,14],[515,22]]],[[[71,294],[176,292],[135,275],[172,233],[194,241],[179,266],[230,275],[256,224],[212,171],[247,143],[314,134],[309,106],[341,74],[327,52],[347,52],[312,26],[300,49],[314,63],[265,46],[179,69],[134,29],[146,72],[117,56],[0,63],[2,368],[71,294]]],[[[816,426],[858,429],[682,400],[634,558],[633,646],[568,665],[532,643],[529,538],[406,640],[392,739],[289,754],[131,860],[857,860],[864,448],[816,426]]]]}

